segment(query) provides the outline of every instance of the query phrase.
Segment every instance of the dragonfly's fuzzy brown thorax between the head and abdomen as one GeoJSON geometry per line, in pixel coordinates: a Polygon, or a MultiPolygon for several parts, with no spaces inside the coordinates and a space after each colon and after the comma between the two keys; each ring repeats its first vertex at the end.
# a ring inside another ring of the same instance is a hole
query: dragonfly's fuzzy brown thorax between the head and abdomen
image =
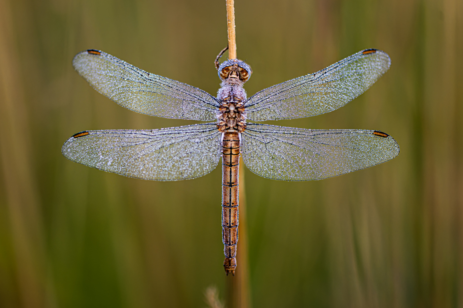
{"type": "Polygon", "coordinates": [[[217,114],[219,131],[243,132],[246,127],[246,113],[244,112],[246,91],[244,91],[243,84],[223,85],[217,93],[217,98],[220,101],[219,113],[217,114]]]}

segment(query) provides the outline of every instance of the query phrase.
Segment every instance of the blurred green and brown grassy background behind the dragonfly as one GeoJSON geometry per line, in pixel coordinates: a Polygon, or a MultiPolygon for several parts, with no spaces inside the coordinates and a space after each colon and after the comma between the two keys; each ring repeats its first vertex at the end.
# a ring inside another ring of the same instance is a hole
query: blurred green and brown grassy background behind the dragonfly
{"type": "MultiPolygon", "coordinates": [[[[248,95],[363,48],[392,66],[332,113],[394,160],[322,181],[245,170],[252,307],[463,307],[463,2],[236,0],[248,95]]],[[[92,129],[194,123],[137,114],[71,65],[96,48],[215,95],[225,1],[0,0],[0,307],[205,307],[225,294],[220,168],[130,179],[65,159],[92,129]]]]}

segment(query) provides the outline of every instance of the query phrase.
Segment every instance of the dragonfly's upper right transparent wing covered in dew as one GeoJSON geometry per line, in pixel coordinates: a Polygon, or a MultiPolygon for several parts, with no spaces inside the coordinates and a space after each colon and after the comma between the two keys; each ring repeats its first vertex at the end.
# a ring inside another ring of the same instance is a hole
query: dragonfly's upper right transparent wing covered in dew
{"type": "Polygon", "coordinates": [[[296,119],[333,111],[366,91],[390,65],[385,52],[365,49],[319,72],[257,92],[244,103],[247,117],[296,119]]]}

